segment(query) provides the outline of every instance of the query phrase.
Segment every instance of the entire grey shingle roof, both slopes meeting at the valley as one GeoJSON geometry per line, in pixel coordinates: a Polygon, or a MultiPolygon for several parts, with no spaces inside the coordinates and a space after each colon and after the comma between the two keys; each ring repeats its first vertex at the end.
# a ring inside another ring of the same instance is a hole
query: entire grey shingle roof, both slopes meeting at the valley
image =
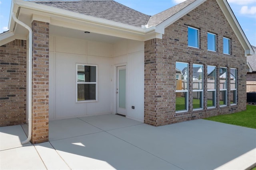
{"type": "Polygon", "coordinates": [[[186,0],[154,16],[148,16],[114,0],[31,0],[38,4],[77,12],[80,14],[126,23],[136,27],[156,26],[196,0],[186,0]]]}

